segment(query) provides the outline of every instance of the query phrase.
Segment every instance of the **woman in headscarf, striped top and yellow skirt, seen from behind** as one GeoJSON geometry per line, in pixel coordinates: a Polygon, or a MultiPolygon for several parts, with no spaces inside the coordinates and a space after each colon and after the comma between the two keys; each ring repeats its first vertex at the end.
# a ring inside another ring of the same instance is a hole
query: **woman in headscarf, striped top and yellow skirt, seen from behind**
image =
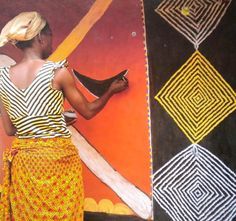
{"type": "Polygon", "coordinates": [[[8,22],[0,46],[7,42],[20,48],[23,58],[0,72],[4,129],[16,135],[5,155],[2,220],[83,220],[81,162],[63,117],[63,99],[91,119],[128,87],[127,80],[114,81],[102,97],[88,102],[66,61],[45,60],[52,52],[52,33],[37,12],[8,22]]]}

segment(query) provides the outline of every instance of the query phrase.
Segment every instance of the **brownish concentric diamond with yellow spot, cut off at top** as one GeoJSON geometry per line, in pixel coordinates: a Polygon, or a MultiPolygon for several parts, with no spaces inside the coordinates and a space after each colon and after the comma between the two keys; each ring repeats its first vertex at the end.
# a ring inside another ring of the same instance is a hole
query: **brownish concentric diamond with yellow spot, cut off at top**
{"type": "Polygon", "coordinates": [[[231,0],[164,0],[155,11],[198,49],[230,3],[231,0]]]}

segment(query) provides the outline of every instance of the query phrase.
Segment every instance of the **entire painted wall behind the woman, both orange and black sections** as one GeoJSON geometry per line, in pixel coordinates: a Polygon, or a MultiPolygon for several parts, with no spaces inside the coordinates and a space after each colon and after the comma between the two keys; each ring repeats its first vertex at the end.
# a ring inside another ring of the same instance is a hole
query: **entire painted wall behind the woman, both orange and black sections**
{"type": "MultiPolygon", "coordinates": [[[[68,59],[89,100],[129,80],[94,119],[70,126],[91,220],[236,219],[235,9],[232,0],[2,3],[1,27],[22,11],[49,20],[49,59],[68,59]]],[[[0,54],[1,65],[20,59],[10,45],[0,54]]],[[[0,125],[0,145],[10,143],[0,125]]]]}

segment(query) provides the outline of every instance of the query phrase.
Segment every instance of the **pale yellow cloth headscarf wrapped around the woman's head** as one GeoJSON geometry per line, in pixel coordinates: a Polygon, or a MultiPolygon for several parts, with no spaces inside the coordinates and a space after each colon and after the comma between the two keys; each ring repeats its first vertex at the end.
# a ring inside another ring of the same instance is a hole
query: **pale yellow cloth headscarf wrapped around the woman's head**
{"type": "Polygon", "coordinates": [[[33,39],[45,27],[46,20],[38,12],[22,12],[10,20],[0,34],[0,47],[10,42],[33,39]]]}

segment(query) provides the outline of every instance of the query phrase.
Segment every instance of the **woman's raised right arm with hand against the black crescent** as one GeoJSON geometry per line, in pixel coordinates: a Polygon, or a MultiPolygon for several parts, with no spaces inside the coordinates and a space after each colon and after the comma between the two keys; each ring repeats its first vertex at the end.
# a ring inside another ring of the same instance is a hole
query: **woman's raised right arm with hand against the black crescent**
{"type": "Polygon", "coordinates": [[[128,87],[127,80],[115,80],[106,93],[100,98],[89,102],[80,92],[75,83],[75,78],[66,68],[56,71],[54,84],[57,89],[62,90],[64,96],[85,119],[91,119],[99,113],[113,94],[119,93],[128,87]]]}

